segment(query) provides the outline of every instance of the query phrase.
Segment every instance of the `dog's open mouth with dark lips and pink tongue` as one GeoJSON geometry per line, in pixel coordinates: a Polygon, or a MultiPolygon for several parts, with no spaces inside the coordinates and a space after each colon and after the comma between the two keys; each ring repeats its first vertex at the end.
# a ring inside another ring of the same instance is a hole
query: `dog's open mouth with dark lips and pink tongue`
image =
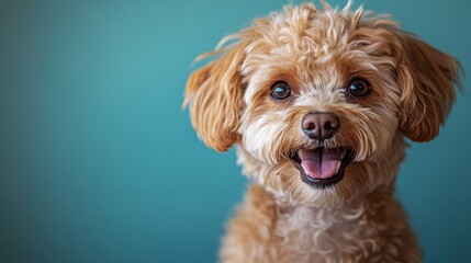
{"type": "Polygon", "coordinates": [[[345,169],[354,159],[355,152],[348,148],[300,149],[291,160],[300,170],[304,183],[315,187],[334,185],[344,179],[345,169]]]}

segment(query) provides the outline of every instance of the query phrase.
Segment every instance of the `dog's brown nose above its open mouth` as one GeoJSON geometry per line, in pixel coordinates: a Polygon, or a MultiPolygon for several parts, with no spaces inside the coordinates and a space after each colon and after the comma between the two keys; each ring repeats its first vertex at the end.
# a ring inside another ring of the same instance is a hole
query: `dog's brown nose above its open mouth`
{"type": "Polygon", "coordinates": [[[311,139],[324,140],[337,133],[340,121],[333,113],[310,113],[303,117],[301,127],[311,139]]]}

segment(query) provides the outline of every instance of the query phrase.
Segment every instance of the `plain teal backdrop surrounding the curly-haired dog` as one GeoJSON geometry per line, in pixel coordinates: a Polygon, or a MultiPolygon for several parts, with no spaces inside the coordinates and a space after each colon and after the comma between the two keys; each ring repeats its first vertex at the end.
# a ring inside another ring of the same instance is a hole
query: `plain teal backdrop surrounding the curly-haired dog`
{"type": "MultiPolygon", "coordinates": [[[[471,71],[470,1],[358,2],[471,71]]],[[[0,262],[216,262],[246,181],[234,150],[198,140],[184,83],[199,54],[284,3],[1,1],[0,262]]],[[[425,262],[469,259],[470,112],[460,94],[401,170],[425,262]]]]}

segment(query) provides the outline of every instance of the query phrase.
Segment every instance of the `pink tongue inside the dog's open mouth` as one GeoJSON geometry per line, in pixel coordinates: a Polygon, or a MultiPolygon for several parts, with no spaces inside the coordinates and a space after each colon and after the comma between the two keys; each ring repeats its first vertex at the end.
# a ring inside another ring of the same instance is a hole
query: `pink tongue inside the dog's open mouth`
{"type": "Polygon", "coordinates": [[[335,175],[343,152],[340,148],[300,150],[299,157],[306,175],[313,179],[328,179],[335,175]]]}

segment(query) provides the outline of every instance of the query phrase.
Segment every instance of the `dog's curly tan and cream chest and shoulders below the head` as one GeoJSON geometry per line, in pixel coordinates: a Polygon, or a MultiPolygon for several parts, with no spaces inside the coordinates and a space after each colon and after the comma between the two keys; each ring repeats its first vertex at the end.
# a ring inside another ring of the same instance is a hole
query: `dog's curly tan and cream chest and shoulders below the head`
{"type": "Polygon", "coordinates": [[[420,262],[405,214],[381,190],[332,207],[279,204],[251,186],[228,226],[225,262],[420,262]]]}

